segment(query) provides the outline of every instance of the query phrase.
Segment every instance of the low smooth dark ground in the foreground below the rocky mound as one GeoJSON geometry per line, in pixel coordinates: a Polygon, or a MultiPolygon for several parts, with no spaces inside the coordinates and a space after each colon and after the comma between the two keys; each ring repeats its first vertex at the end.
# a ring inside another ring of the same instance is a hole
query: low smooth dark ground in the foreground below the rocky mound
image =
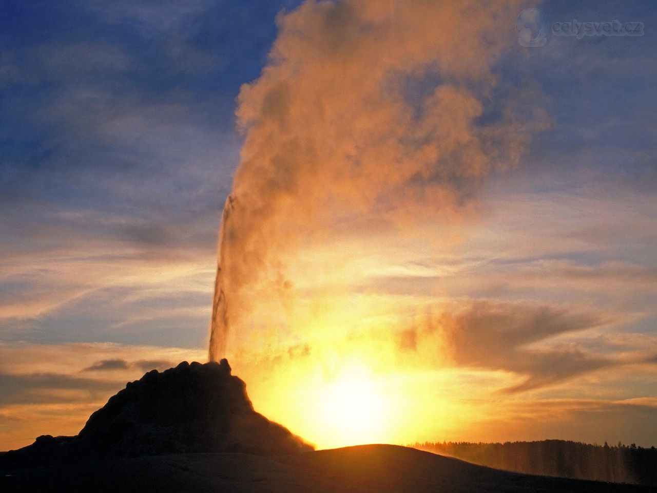
{"type": "Polygon", "coordinates": [[[1,492],[646,492],[648,487],[488,469],[413,448],[366,445],[286,456],[171,454],[1,471],[1,492]]]}

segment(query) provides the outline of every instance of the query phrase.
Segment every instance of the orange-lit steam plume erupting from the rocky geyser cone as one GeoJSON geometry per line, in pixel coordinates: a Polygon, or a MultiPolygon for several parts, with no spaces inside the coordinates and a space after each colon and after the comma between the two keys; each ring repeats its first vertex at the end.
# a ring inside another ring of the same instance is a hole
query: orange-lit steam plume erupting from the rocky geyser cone
{"type": "Polygon", "coordinates": [[[269,64],[238,97],[210,360],[263,283],[288,289],[284,258],[304,239],[459,214],[518,162],[540,118],[514,112],[522,91],[495,101],[491,66],[520,5],[309,0],[279,16],[269,64]]]}

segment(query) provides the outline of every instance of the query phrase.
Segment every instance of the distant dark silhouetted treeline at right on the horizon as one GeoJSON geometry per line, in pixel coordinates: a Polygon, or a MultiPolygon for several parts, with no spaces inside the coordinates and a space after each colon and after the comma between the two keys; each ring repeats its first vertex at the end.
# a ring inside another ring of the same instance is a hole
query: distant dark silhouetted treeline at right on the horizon
{"type": "Polygon", "coordinates": [[[657,449],[635,444],[541,442],[424,442],[413,445],[495,469],[595,481],[657,485],[657,449]]]}

